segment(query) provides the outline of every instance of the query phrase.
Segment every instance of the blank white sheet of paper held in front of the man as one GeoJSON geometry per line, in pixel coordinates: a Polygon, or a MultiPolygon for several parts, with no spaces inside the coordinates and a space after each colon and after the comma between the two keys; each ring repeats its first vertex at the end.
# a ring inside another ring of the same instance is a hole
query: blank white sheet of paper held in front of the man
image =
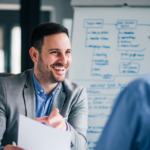
{"type": "Polygon", "coordinates": [[[25,150],[70,150],[71,132],[19,116],[18,146],[25,150]]]}

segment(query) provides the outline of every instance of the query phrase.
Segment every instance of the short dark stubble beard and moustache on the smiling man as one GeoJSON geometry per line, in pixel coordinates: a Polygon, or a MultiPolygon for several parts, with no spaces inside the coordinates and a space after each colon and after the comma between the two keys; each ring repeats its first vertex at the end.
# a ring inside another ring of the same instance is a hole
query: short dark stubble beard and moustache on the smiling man
{"type": "MultiPolygon", "coordinates": [[[[62,64],[53,64],[57,66],[64,66],[62,64]]],[[[58,83],[63,82],[65,80],[65,75],[61,78],[56,78],[52,71],[49,70],[50,66],[44,64],[44,61],[39,55],[38,63],[37,63],[37,70],[38,70],[38,78],[43,83],[58,83]]]]}

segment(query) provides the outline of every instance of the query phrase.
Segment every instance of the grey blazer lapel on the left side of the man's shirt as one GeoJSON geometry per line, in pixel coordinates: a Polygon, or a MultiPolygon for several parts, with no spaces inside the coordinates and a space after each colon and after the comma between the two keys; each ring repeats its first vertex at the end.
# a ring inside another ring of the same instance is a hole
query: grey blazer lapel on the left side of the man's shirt
{"type": "Polygon", "coordinates": [[[29,118],[35,118],[35,90],[32,77],[32,70],[27,76],[26,84],[24,87],[24,101],[26,107],[26,115],[29,118]]]}

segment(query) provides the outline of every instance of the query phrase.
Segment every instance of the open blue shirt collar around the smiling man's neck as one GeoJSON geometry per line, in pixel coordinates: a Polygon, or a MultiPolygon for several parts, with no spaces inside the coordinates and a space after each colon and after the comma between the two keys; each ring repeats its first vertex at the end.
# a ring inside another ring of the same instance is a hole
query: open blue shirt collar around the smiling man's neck
{"type": "MultiPolygon", "coordinates": [[[[44,90],[44,88],[40,85],[40,83],[38,82],[38,80],[36,79],[36,77],[35,77],[35,75],[34,75],[34,71],[33,71],[33,81],[34,81],[34,86],[35,86],[35,93],[36,94],[45,94],[45,90],[44,90]]],[[[59,88],[60,88],[60,85],[61,85],[61,82],[59,82],[58,84],[57,84],[57,86],[56,86],[56,88],[52,91],[52,93],[51,94],[55,94],[56,92],[57,92],[57,90],[59,90],[59,88]]],[[[51,95],[50,94],[50,95],[51,95]]]]}

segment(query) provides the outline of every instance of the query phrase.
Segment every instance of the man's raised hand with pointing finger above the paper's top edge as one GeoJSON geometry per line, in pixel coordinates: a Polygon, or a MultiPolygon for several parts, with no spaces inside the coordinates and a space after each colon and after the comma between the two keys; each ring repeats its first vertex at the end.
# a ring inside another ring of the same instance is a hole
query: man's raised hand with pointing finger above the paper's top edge
{"type": "Polygon", "coordinates": [[[66,122],[64,118],[59,114],[59,109],[57,108],[55,108],[49,116],[35,118],[35,120],[38,122],[43,122],[46,125],[52,126],[60,130],[67,129],[66,122]]]}

